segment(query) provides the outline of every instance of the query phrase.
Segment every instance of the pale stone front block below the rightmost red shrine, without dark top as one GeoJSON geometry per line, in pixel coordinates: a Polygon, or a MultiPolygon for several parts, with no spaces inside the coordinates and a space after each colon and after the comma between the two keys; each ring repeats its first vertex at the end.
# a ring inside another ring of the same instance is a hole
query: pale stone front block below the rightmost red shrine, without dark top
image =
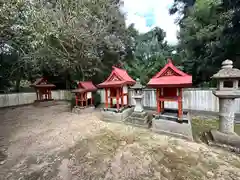
{"type": "Polygon", "coordinates": [[[173,135],[176,137],[193,140],[191,121],[188,123],[178,123],[165,119],[152,119],[152,131],[173,135]]]}

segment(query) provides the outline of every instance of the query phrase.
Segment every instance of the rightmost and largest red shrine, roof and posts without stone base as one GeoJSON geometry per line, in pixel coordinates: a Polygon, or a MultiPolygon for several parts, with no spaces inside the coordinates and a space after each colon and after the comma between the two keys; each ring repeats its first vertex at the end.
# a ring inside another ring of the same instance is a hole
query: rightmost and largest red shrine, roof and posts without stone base
{"type": "Polygon", "coordinates": [[[147,84],[156,88],[157,112],[164,111],[165,101],[175,101],[178,103],[178,118],[183,116],[182,98],[183,88],[192,85],[192,76],[182,72],[173,65],[169,59],[165,67],[158,72],[147,84]]]}

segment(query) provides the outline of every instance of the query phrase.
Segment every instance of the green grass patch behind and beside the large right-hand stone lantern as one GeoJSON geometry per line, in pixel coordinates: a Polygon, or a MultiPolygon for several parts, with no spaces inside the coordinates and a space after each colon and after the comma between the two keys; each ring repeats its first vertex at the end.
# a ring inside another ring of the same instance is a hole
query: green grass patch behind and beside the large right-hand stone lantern
{"type": "MultiPolygon", "coordinates": [[[[219,120],[216,119],[192,119],[192,131],[193,131],[193,138],[195,140],[199,140],[201,134],[203,132],[209,131],[211,129],[218,129],[219,128],[219,120]]],[[[235,124],[235,132],[240,135],[240,124],[235,124]]]]}

